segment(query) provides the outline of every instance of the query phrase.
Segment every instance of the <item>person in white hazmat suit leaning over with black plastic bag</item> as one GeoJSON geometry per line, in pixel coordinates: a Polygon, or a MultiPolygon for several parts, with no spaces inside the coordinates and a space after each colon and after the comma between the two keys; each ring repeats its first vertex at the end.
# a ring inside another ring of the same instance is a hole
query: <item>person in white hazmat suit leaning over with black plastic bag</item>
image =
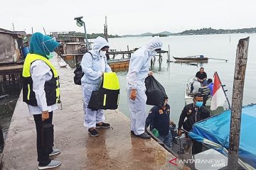
{"type": "Polygon", "coordinates": [[[161,50],[163,43],[159,37],[152,38],[147,45],[134,52],[129,62],[127,73],[127,95],[129,112],[131,115],[131,133],[143,139],[150,136],[145,132],[146,112],[146,86],[147,75],[153,75],[149,71],[151,57],[161,50]]]}

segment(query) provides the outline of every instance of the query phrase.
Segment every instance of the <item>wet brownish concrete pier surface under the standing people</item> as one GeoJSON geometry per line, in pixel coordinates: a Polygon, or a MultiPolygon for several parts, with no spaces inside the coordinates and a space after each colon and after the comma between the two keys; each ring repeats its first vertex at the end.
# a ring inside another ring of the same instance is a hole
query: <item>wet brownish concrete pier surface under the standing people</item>
{"type": "MultiPolygon", "coordinates": [[[[63,109],[53,113],[55,148],[61,153],[53,157],[62,165],[57,169],[188,169],[169,161],[175,159],[154,140],[130,135],[130,120],[119,111],[105,111],[112,128],[99,129],[99,137],[91,137],[83,126],[81,87],[73,83],[73,69],[58,67],[63,109]]],[[[22,93],[18,98],[4,148],[3,169],[37,169],[36,126],[29,115],[22,93]]]]}

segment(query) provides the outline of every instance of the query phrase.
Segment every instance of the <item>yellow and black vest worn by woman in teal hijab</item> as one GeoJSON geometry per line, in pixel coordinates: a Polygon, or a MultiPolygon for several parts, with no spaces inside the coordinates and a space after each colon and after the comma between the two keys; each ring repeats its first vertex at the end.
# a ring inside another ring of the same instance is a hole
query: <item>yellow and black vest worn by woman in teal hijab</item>
{"type": "Polygon", "coordinates": [[[55,103],[60,103],[60,82],[58,79],[58,72],[50,63],[46,57],[36,54],[28,54],[23,64],[23,101],[31,106],[38,106],[35,93],[33,92],[33,79],[31,78],[31,64],[36,60],[42,60],[50,67],[50,71],[53,73],[53,78],[50,81],[46,81],[46,102],[47,106],[52,106],[55,103]]]}

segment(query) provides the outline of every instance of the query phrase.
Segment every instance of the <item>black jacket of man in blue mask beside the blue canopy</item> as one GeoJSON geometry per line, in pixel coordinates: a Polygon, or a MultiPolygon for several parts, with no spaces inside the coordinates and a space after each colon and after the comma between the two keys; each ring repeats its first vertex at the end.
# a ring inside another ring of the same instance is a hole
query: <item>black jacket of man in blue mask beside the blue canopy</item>
{"type": "Polygon", "coordinates": [[[191,131],[194,123],[210,117],[210,111],[204,106],[195,108],[194,103],[188,104],[183,108],[178,120],[178,129],[183,126],[184,130],[191,131]],[[185,118],[187,118],[185,120],[185,118]],[[185,120],[185,122],[184,122],[185,120]]]}

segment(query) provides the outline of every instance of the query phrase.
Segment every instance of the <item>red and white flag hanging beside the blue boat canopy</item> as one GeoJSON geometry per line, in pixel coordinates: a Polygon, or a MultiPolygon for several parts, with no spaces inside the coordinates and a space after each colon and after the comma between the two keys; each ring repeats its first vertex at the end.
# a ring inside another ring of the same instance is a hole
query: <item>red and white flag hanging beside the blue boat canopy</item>
{"type": "Polygon", "coordinates": [[[214,73],[213,77],[214,77],[213,97],[210,103],[211,111],[216,110],[219,106],[223,106],[226,101],[226,97],[225,97],[223,88],[221,86],[221,81],[220,81],[220,78],[218,77],[217,72],[214,73]]]}

